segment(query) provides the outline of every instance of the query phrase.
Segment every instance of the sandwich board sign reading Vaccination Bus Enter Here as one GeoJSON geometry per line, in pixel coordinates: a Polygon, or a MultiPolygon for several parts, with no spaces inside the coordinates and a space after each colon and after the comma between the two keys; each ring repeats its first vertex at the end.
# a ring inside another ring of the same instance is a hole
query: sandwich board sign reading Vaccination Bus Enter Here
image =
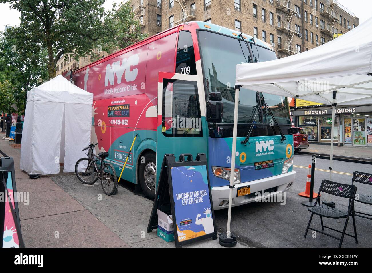
{"type": "Polygon", "coordinates": [[[174,242],[182,247],[207,238],[217,239],[211,186],[205,154],[164,155],[147,232],[157,228],[157,209],[172,215],[174,242]],[[185,159],[186,157],[186,159],[185,159]]]}

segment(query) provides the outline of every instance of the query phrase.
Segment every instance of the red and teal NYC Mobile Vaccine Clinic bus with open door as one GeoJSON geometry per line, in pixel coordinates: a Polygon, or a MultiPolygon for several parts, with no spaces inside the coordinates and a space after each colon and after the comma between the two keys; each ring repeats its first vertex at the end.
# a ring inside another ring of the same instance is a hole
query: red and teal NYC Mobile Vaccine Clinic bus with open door
{"type": "MultiPolygon", "coordinates": [[[[231,171],[235,65],[276,59],[270,45],[225,27],[188,22],[73,73],[93,97],[92,141],[116,173],[154,198],[166,153],[205,153],[214,209],[287,191],[295,179],[286,97],[241,88],[235,169],[231,171]],[[223,116],[221,108],[223,105],[223,116]],[[285,140],[283,140],[285,138],[285,140]],[[159,171],[157,172],[157,168],[159,171]]],[[[70,77],[70,73],[65,77],[70,77]]]]}

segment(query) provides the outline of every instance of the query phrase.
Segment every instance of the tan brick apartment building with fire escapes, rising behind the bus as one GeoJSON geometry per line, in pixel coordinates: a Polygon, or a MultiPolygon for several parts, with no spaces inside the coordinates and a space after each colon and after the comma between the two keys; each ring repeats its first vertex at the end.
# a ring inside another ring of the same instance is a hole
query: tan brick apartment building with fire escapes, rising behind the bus
{"type": "Polygon", "coordinates": [[[322,45],[359,25],[335,0],[132,0],[141,32],[205,21],[273,45],[279,58],[322,45]]]}

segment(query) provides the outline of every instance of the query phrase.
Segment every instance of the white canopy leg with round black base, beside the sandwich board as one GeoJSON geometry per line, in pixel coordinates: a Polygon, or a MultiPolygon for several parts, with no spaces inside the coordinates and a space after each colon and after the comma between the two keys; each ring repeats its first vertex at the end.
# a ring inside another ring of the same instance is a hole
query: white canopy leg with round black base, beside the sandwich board
{"type": "Polygon", "coordinates": [[[237,135],[237,130],[238,130],[239,91],[240,91],[240,88],[235,88],[234,127],[232,130],[230,196],[229,196],[229,208],[228,208],[228,215],[227,215],[227,230],[226,230],[226,234],[220,234],[218,237],[219,244],[221,246],[226,246],[226,247],[231,247],[231,246],[236,245],[236,235],[231,234],[230,225],[231,225],[232,189],[234,186],[236,135],[237,135]]]}

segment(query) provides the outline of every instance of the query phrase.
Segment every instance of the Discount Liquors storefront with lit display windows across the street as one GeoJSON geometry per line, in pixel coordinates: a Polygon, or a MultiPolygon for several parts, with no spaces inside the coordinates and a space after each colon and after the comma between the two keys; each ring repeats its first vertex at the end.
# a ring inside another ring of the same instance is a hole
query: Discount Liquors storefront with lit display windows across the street
{"type": "MultiPolygon", "coordinates": [[[[336,106],[334,142],[345,146],[372,146],[372,105],[336,106]]],[[[309,142],[331,142],[330,106],[295,109],[295,124],[302,127],[309,142]]]]}

